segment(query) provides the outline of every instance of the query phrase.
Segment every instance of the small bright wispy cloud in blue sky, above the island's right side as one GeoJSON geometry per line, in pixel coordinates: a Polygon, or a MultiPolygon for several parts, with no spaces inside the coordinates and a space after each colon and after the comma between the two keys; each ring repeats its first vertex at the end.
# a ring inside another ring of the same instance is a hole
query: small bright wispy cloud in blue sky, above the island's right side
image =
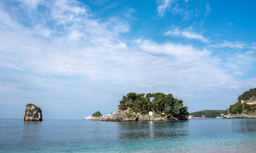
{"type": "Polygon", "coordinates": [[[183,36],[185,38],[199,40],[203,43],[209,42],[209,40],[207,38],[204,38],[201,34],[196,34],[194,31],[192,31],[191,28],[180,31],[179,27],[174,27],[173,29],[166,31],[166,33],[164,33],[164,35],[166,35],[166,36],[170,36],[170,35],[183,36]]]}

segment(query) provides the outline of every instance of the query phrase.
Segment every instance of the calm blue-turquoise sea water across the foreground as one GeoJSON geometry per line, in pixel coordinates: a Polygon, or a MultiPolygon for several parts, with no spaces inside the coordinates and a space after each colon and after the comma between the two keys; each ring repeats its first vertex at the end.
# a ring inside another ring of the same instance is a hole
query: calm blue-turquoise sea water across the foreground
{"type": "Polygon", "coordinates": [[[0,152],[255,152],[256,119],[0,119],[0,152]]]}

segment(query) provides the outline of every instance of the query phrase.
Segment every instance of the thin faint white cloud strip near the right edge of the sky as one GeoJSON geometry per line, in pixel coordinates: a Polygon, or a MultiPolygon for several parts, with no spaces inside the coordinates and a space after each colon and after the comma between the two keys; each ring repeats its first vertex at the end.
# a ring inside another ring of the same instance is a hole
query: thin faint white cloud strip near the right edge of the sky
{"type": "Polygon", "coordinates": [[[209,45],[209,47],[214,47],[214,48],[233,48],[233,49],[244,49],[247,46],[246,43],[243,41],[223,41],[223,43],[217,43],[216,45],[209,45]]]}

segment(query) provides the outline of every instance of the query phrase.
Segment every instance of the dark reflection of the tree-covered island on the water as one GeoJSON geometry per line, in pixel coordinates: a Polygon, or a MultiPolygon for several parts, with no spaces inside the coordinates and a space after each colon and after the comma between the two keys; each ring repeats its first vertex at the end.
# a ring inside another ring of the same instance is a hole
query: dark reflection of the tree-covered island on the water
{"type": "Polygon", "coordinates": [[[119,139],[180,138],[189,135],[188,121],[119,122],[119,139]]]}

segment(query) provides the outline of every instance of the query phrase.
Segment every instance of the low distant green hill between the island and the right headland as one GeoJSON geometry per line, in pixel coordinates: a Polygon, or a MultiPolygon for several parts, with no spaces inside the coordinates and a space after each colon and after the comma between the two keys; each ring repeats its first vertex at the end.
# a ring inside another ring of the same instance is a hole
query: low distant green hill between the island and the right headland
{"type": "Polygon", "coordinates": [[[226,110],[201,110],[198,112],[189,113],[192,117],[207,117],[207,118],[216,118],[223,113],[226,115],[226,110]]]}

